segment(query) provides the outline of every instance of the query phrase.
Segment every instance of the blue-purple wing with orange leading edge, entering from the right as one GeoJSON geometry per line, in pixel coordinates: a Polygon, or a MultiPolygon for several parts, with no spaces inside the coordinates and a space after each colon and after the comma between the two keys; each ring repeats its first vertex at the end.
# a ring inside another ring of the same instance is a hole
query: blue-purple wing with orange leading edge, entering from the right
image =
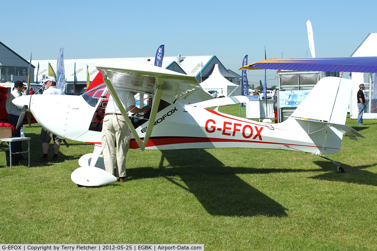
{"type": "Polygon", "coordinates": [[[297,70],[377,72],[377,57],[349,58],[272,58],[249,64],[238,70],[297,70]]]}

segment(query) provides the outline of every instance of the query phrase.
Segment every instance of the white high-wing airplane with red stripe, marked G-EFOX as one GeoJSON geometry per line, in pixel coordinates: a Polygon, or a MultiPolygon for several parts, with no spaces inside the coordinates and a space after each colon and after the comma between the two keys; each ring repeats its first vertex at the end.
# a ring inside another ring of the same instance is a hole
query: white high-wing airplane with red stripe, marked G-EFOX
{"type": "MultiPolygon", "coordinates": [[[[116,181],[100,169],[101,127],[109,94],[130,127],[133,149],[266,148],[306,152],[330,160],[324,154],[339,152],[343,135],[354,140],[364,137],[345,125],[352,88],[349,79],[321,79],[286,121],[266,124],[207,109],[247,102],[247,98],[214,99],[193,76],[124,60],[101,61],[96,67],[104,84],[81,96],[29,95],[13,101],[20,108],[26,105],[43,128],[59,137],[96,144],[93,154],[80,159],[83,167],[71,175],[80,186],[116,181]],[[153,100],[150,113],[135,127],[116,94],[120,89],[153,100]]],[[[344,172],[340,163],[333,162],[344,172]]]]}

